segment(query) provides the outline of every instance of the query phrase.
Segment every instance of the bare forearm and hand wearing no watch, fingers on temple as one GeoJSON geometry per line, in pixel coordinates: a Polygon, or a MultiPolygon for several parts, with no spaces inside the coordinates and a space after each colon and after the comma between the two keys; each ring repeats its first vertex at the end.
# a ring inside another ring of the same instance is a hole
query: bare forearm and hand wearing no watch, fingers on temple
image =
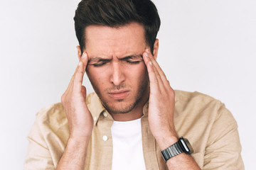
{"type": "Polygon", "coordinates": [[[87,65],[84,53],[73,75],[68,89],[61,97],[68,118],[70,137],[57,169],[84,169],[87,146],[92,135],[93,120],[85,103],[86,89],[82,77],[87,65]]]}

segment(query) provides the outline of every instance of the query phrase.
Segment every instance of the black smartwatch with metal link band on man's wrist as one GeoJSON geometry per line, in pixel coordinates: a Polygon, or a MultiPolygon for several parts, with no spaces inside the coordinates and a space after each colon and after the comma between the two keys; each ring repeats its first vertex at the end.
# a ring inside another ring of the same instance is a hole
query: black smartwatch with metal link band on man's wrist
{"type": "Polygon", "coordinates": [[[161,155],[163,156],[164,161],[166,162],[168,159],[171,159],[177,154],[181,154],[183,152],[186,154],[192,154],[193,148],[191,147],[191,144],[188,142],[186,138],[180,137],[178,138],[178,142],[164,149],[161,152],[161,155]]]}

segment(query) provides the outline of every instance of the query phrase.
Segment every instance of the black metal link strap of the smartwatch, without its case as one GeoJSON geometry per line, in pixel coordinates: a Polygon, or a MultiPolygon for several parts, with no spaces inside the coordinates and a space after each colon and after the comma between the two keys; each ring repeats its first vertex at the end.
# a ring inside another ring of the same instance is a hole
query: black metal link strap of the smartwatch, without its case
{"type": "Polygon", "coordinates": [[[178,142],[176,142],[174,145],[171,145],[171,147],[167,147],[166,149],[164,149],[161,152],[161,154],[164,157],[164,161],[166,162],[171,157],[174,157],[177,154],[181,154],[182,152],[183,151],[182,151],[180,145],[178,145],[178,142]]]}

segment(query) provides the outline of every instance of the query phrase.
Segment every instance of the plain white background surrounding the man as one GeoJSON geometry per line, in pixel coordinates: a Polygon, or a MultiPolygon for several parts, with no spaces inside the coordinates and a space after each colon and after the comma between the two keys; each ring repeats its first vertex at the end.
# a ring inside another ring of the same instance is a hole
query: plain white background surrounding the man
{"type": "MultiPolygon", "coordinates": [[[[256,1],[159,0],[158,61],[174,89],[225,103],[238,121],[242,158],[255,169],[256,1]]],[[[23,169],[26,135],[60,101],[78,57],[78,0],[0,1],[0,169],[23,169]]],[[[90,82],[85,86],[92,91],[90,82]]]]}

